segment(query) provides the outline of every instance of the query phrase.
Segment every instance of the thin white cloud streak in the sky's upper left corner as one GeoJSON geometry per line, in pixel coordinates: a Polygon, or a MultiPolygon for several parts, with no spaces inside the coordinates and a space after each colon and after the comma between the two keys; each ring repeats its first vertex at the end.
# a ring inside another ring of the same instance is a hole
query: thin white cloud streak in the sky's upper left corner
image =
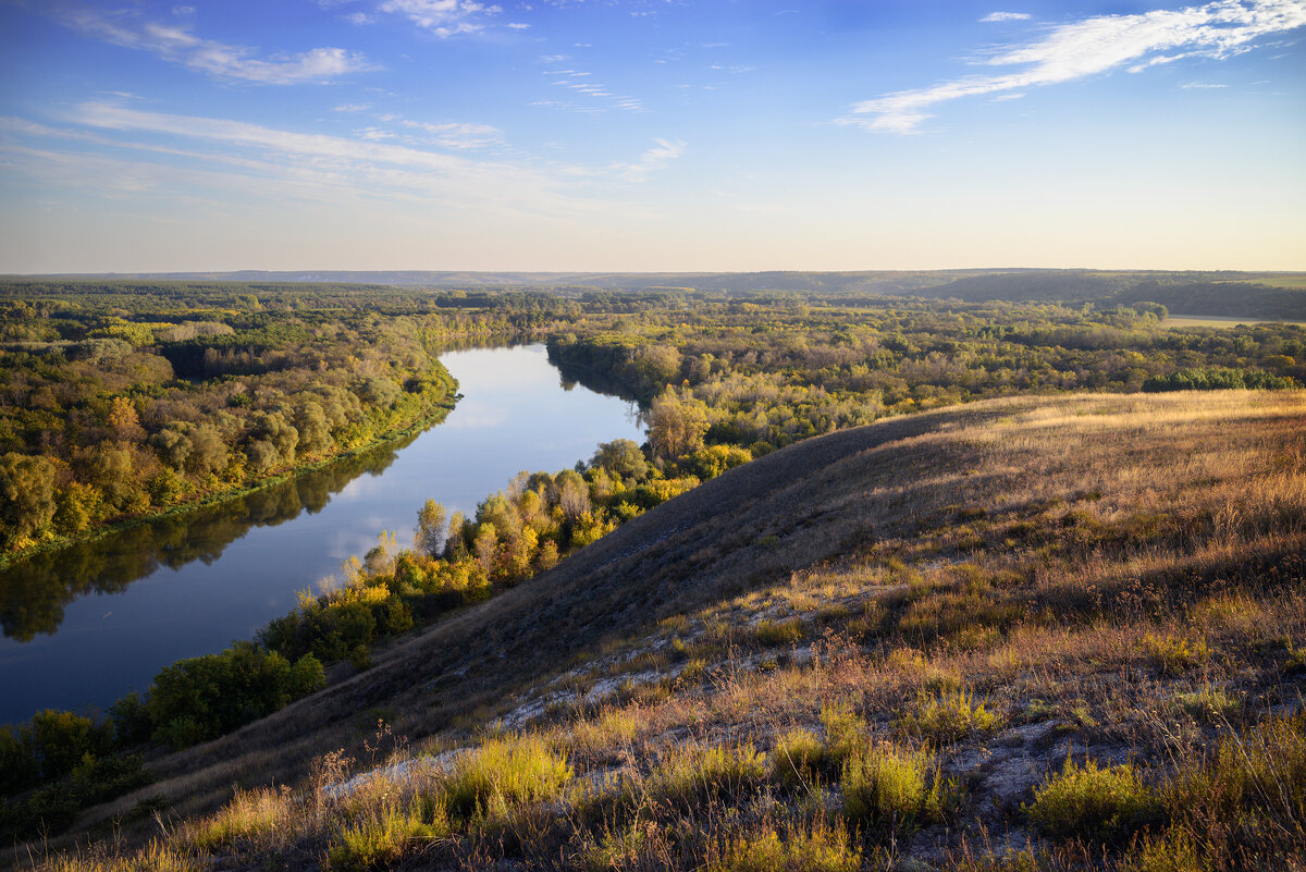
{"type": "Polygon", "coordinates": [[[248,46],[204,39],[189,27],[167,21],[149,21],[131,12],[65,9],[59,21],[88,37],[124,48],[148,51],[166,61],[219,78],[265,85],[325,82],[349,73],[377,69],[362,54],[343,48],[312,48],[299,54],[257,56],[248,46]]]}

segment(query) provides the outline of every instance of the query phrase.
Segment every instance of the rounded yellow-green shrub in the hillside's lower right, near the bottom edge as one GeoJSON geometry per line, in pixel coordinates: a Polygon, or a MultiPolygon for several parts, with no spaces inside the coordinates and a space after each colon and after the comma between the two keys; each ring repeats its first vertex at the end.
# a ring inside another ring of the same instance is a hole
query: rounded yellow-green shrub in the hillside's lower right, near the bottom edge
{"type": "Polygon", "coordinates": [[[1029,817],[1053,838],[1122,842],[1155,822],[1160,800],[1132,765],[1100,769],[1070,758],[1058,775],[1034,788],[1029,817]]]}

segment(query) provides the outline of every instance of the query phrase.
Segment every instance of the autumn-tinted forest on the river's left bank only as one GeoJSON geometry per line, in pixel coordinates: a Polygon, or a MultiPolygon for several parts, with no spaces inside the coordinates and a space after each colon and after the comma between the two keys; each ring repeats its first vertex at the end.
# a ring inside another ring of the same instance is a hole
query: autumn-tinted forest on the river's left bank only
{"type": "Polygon", "coordinates": [[[440,416],[451,342],[530,330],[466,295],[0,286],[0,548],[259,486],[440,416]]]}

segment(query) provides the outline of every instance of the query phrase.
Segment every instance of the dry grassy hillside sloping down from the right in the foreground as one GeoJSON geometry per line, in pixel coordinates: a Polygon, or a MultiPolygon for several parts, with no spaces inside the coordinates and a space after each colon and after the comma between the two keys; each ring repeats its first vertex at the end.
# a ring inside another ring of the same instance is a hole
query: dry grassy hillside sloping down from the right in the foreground
{"type": "Polygon", "coordinates": [[[1027,397],[795,444],[150,761],[82,824],[166,833],[52,868],[1301,865],[1303,424],[1027,397]]]}

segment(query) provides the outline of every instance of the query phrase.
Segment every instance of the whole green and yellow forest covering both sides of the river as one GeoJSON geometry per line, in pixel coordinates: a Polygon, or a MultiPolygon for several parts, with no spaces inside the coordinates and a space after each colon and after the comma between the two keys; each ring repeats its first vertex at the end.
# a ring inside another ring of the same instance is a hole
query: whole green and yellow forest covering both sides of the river
{"type": "Polygon", "coordinates": [[[644,445],[619,440],[576,469],[522,473],[473,517],[421,506],[413,548],[383,535],[346,564],[340,589],[304,597],[252,642],[165,670],[108,719],[43,713],[0,730],[0,764],[14,773],[0,825],[26,837],[68,822],[140,783],[132,753],[263,717],[320,687],[324,666],[367,668],[376,644],[808,436],[987,397],[1306,379],[1299,326],[1174,329],[1165,317],[1147,300],[820,291],[0,286],[0,535],[10,553],[247,490],[434,420],[456,389],[436,356],[468,341],[546,337],[564,377],[639,399],[648,426],[644,445]],[[57,779],[72,787],[50,792],[57,779]]]}

